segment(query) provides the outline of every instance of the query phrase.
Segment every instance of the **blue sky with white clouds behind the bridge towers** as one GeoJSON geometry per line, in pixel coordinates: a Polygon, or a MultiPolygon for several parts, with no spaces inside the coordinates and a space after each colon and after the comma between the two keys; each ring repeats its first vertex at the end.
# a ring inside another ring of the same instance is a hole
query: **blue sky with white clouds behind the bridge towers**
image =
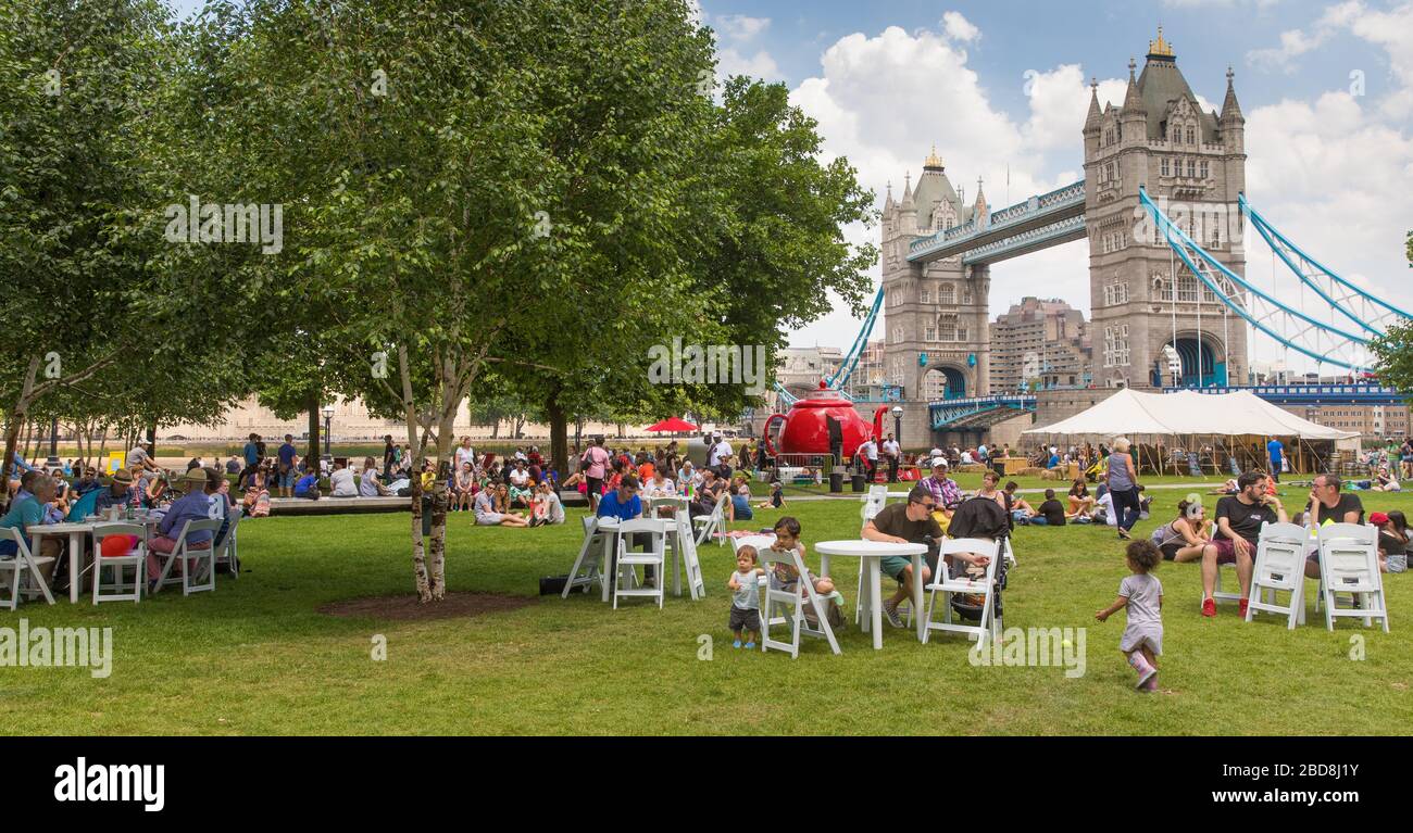
{"type": "MultiPolygon", "coordinates": [[[[1121,103],[1129,58],[1142,66],[1161,23],[1208,106],[1235,71],[1252,203],[1347,278],[1409,304],[1413,0],[688,1],[718,34],[718,73],[786,83],[820,121],[825,154],[848,157],[879,208],[889,182],[900,195],[904,175],[916,179],[933,143],[968,199],[985,178],[993,208],[1007,202],[1007,174],[1009,202],[1082,178],[1089,78],[1121,103]]],[[[198,6],[174,1],[182,14],[198,6]]],[[[1248,244],[1248,277],[1280,292],[1269,260],[1259,240],[1248,244]]],[[[992,277],[993,315],[1024,295],[1089,312],[1087,243],[998,264],[992,277]]],[[[836,308],[791,343],[846,347],[858,326],[836,308]]],[[[1256,343],[1255,361],[1279,357],[1256,343]]]]}

